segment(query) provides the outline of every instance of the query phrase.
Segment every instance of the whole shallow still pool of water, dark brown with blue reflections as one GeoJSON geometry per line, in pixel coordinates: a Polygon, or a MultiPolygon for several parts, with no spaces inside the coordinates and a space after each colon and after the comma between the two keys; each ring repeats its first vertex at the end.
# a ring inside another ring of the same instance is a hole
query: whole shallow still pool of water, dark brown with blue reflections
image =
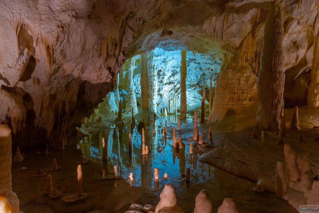
{"type": "MultiPolygon", "coordinates": [[[[20,210],[24,213],[122,213],[128,210],[132,203],[155,206],[159,202],[159,194],[164,185],[170,183],[175,188],[178,205],[185,213],[193,212],[195,197],[201,189],[209,191],[213,212],[217,212],[225,197],[233,198],[241,213],[297,212],[288,202],[276,197],[275,193],[253,191],[252,188],[256,186],[255,181],[199,162],[198,158],[203,155],[202,148],[197,149],[194,146],[192,158],[189,158],[188,139],[192,135],[192,118],[181,121],[182,131],[176,131],[176,136],[182,136],[183,148],[175,150],[176,155],[173,155],[172,132],[169,131],[169,126],[176,127],[176,123],[174,116],[160,117],[156,121],[155,136],[152,133],[152,125],[146,125],[145,142],[150,148],[150,154],[147,158],[143,158],[141,155],[140,130],[131,129],[130,124],[126,125],[125,122],[126,128],[122,131],[116,127],[119,124],[114,125],[112,122],[90,122],[90,129],[84,128],[82,132],[92,132],[92,134],[72,138],[71,141],[75,143],[60,151],[52,148],[49,150],[51,152],[49,155],[42,154],[44,147],[22,150],[21,152],[24,152],[27,157],[21,163],[12,164],[12,186],[20,200],[20,210]],[[168,134],[167,137],[162,137],[161,129],[164,128],[166,119],[168,134]],[[108,139],[108,161],[104,162],[101,159],[103,129],[104,137],[108,139]],[[133,154],[131,156],[128,152],[129,132],[132,133],[133,154]],[[41,154],[37,154],[37,151],[40,151],[41,154]],[[89,160],[82,165],[83,192],[88,193],[88,195],[83,200],[65,203],[61,198],[77,191],[77,162],[81,154],[89,160]],[[56,158],[57,165],[62,167],[60,170],[50,170],[53,158],[56,158]],[[112,175],[113,165],[118,166],[118,173],[122,178],[101,179],[103,174],[112,175]],[[27,167],[27,170],[20,171],[22,166],[27,167]],[[45,176],[33,177],[38,167],[52,176],[53,188],[63,192],[61,196],[49,198],[48,195],[42,193],[45,189],[45,176]],[[175,178],[184,174],[186,168],[189,167],[192,180],[190,183],[163,180],[155,184],[152,181],[153,168],[155,167],[159,168],[160,177],[163,176],[164,172],[167,172],[168,176],[175,178]],[[131,183],[125,180],[130,172],[135,177],[135,181],[131,183]]],[[[199,127],[199,131],[205,133],[207,127],[203,125],[199,127]]],[[[248,133],[238,134],[246,136],[248,133]]],[[[207,138],[204,136],[204,141],[206,140],[207,138]]]]}

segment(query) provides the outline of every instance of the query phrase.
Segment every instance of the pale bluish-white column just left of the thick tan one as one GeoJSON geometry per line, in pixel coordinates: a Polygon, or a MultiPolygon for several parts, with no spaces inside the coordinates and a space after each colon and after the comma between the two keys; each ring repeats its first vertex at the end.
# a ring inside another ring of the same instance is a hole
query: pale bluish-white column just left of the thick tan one
{"type": "Polygon", "coordinates": [[[137,103],[136,103],[136,96],[135,96],[135,90],[134,90],[134,82],[133,82],[133,75],[134,75],[134,69],[135,69],[135,64],[137,60],[137,55],[133,56],[131,58],[131,63],[130,67],[128,69],[128,92],[126,96],[126,106],[125,106],[125,112],[132,112],[133,109],[133,114],[137,113],[137,103]]]}

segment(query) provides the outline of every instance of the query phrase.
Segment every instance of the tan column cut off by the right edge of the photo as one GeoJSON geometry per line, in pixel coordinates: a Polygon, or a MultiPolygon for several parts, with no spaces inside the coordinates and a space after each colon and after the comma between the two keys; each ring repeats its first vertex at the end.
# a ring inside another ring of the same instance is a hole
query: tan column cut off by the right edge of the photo
{"type": "Polygon", "coordinates": [[[311,83],[308,91],[308,108],[315,109],[319,107],[319,33],[315,38],[314,57],[311,67],[311,83]]]}

